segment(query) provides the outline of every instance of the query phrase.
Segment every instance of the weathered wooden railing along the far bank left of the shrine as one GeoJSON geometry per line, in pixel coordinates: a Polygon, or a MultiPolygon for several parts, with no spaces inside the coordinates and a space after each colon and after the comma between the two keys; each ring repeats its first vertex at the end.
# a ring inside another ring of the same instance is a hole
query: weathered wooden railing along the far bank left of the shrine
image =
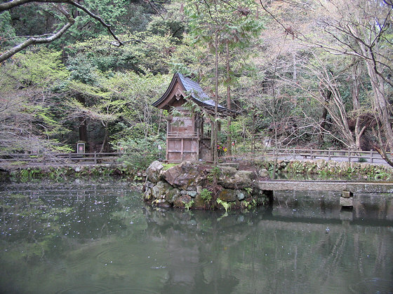
{"type": "Polygon", "coordinates": [[[44,154],[25,154],[13,153],[0,155],[0,162],[20,162],[46,165],[48,163],[67,164],[67,163],[112,163],[116,162],[121,153],[44,153],[44,154]]]}

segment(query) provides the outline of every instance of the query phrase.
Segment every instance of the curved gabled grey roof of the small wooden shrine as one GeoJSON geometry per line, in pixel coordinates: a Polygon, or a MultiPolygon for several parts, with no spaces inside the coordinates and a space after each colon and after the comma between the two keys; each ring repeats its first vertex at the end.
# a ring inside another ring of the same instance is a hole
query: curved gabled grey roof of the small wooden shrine
{"type": "MultiPolygon", "coordinates": [[[[173,97],[177,93],[175,90],[176,85],[178,85],[181,94],[184,96],[189,95],[192,98],[192,101],[202,106],[206,109],[214,109],[215,102],[213,99],[208,97],[208,94],[202,90],[199,83],[196,83],[194,80],[190,78],[186,78],[181,73],[175,73],[171,80],[171,84],[169,85],[168,89],[162,95],[160,99],[152,104],[152,106],[158,107],[159,109],[168,108],[170,102],[172,101],[173,97]]],[[[225,112],[229,111],[224,106],[218,104],[218,111],[225,112]]],[[[234,113],[235,111],[229,111],[234,113]]]]}

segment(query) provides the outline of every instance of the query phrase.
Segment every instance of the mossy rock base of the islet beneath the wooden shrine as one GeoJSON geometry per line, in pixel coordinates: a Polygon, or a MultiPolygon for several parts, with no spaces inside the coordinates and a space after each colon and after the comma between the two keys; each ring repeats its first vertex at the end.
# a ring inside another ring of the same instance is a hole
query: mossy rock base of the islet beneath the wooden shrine
{"type": "Polygon", "coordinates": [[[143,187],[146,202],[185,209],[248,209],[269,201],[258,188],[257,174],[234,167],[182,162],[168,169],[155,161],[143,187]],[[217,184],[213,187],[213,177],[217,184]],[[218,193],[213,197],[213,188],[218,193]]]}

